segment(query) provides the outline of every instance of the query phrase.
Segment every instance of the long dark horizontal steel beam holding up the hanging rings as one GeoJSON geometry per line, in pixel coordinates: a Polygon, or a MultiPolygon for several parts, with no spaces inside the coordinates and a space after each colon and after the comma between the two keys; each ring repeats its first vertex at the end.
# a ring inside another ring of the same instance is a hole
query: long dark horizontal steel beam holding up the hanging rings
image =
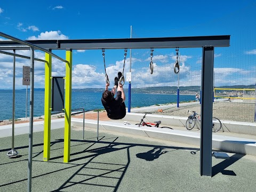
{"type": "MultiPolygon", "coordinates": [[[[118,39],[55,39],[28,40],[28,43],[52,50],[90,50],[90,49],[164,49],[195,48],[204,46],[228,47],[230,35],[194,37],[155,37],[155,38],[118,38],[118,39]]],[[[0,41],[0,50],[29,50],[29,47],[13,41],[0,41]]]]}

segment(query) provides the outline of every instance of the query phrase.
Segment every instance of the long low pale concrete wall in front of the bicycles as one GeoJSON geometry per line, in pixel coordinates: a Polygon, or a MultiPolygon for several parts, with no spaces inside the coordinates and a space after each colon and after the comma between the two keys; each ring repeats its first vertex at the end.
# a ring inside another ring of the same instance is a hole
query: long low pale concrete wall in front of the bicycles
{"type": "MultiPolygon", "coordinates": [[[[138,117],[139,116],[136,116],[136,118],[138,117]]],[[[175,121],[178,122],[177,119],[175,119],[175,121]]],[[[83,126],[83,119],[71,118],[71,122],[73,125],[83,126]]],[[[97,123],[98,122],[95,120],[85,119],[85,127],[97,129],[97,123]]],[[[138,127],[137,125],[124,125],[123,123],[104,121],[99,121],[99,133],[100,130],[139,135],[142,137],[149,137],[172,142],[186,143],[198,147],[200,146],[200,133],[198,132],[159,129],[157,127],[147,126],[138,127]]],[[[235,138],[213,134],[212,148],[228,151],[231,153],[242,153],[256,156],[256,140],[253,139],[235,138]]]]}

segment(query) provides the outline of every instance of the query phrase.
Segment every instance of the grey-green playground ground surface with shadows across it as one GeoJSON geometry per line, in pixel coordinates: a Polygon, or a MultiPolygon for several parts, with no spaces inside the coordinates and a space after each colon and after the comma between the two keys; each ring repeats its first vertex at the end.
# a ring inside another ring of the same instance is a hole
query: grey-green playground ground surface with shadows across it
{"type": "MultiPolygon", "coordinates": [[[[255,191],[256,157],[212,157],[213,177],[199,175],[199,148],[123,133],[71,129],[70,163],[63,163],[63,129],[51,131],[51,159],[43,162],[43,132],[34,133],[32,191],[255,191]]],[[[20,157],[6,156],[0,138],[0,191],[27,191],[28,134],[15,136],[20,157]]]]}

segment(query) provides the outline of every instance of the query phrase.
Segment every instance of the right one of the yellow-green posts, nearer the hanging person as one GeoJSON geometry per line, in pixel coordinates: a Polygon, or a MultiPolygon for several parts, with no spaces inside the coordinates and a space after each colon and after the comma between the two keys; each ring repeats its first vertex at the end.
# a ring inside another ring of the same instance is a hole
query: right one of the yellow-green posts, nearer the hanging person
{"type": "Polygon", "coordinates": [[[72,79],[72,50],[66,51],[66,82],[65,82],[65,127],[63,162],[70,160],[70,124],[71,124],[71,79],[72,79]]]}

